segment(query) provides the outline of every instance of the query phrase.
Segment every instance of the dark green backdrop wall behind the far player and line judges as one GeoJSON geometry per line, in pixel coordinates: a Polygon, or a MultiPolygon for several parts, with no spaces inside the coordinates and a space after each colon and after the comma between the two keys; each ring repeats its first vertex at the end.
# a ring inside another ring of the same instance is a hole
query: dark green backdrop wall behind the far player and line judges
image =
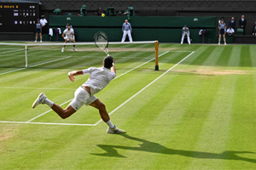
{"type": "MultiPolygon", "coordinates": [[[[52,41],[56,41],[55,28],[65,30],[67,23],[73,26],[76,32],[76,41],[92,42],[97,31],[104,31],[110,42],[120,42],[122,39],[122,25],[127,17],[97,17],[97,16],[49,16],[49,28],[53,29],[52,41]]],[[[180,42],[182,28],[189,27],[192,42],[202,42],[200,30],[206,30],[205,43],[216,42],[218,28],[217,17],[131,17],[133,41],[180,42]]],[[[61,35],[59,41],[63,41],[61,35]]],[[[185,41],[186,42],[186,41],[185,41]]]]}

